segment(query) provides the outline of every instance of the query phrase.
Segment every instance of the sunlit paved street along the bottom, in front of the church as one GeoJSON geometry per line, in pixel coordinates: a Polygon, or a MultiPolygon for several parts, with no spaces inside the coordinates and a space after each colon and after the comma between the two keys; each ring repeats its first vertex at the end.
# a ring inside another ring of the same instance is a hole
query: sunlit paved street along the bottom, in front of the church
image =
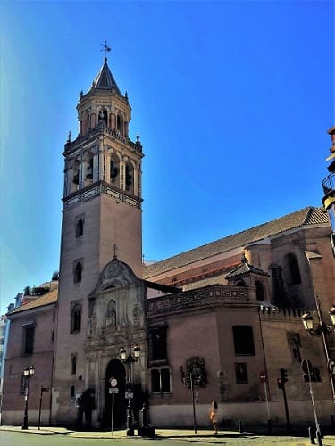
{"type": "MultiPolygon", "coordinates": [[[[107,432],[74,432],[62,428],[42,428],[40,431],[29,428],[22,432],[20,427],[0,427],[0,446],[104,446],[113,442],[115,446],[137,445],[182,446],[197,444],[223,444],[226,446],[309,446],[309,439],[299,436],[262,436],[256,434],[239,434],[222,432],[214,435],[211,431],[157,430],[157,437],[145,439],[138,436],[125,437],[124,431],[115,432],[112,436],[107,432]]],[[[325,436],[323,446],[335,446],[335,435],[325,436]]]]}

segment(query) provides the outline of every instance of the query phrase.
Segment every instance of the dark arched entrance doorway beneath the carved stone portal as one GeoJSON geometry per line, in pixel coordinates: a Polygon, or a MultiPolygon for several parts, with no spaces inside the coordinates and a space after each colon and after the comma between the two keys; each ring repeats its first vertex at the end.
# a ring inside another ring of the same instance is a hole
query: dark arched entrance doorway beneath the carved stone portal
{"type": "Polygon", "coordinates": [[[109,429],[112,427],[112,394],[109,393],[111,388],[109,381],[112,377],[117,380],[119,389],[119,393],[114,394],[114,427],[125,428],[127,409],[127,401],[124,398],[126,371],[119,359],[112,359],[105,373],[104,427],[109,429]]]}

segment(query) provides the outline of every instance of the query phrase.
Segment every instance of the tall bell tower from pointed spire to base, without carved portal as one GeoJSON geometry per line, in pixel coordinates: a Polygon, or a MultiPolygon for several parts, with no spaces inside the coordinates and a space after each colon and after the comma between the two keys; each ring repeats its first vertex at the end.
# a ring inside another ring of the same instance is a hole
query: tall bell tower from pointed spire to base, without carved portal
{"type": "Polygon", "coordinates": [[[131,107],[105,57],[77,105],[79,134],[64,146],[63,222],[53,417],[76,417],[87,383],[88,295],[118,258],[142,277],[142,145],[130,140],[131,107]]]}

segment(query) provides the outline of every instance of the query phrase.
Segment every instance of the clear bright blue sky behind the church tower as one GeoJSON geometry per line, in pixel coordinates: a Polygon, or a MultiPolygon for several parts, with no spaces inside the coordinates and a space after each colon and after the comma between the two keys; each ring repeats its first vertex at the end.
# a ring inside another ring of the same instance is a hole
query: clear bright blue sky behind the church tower
{"type": "Polygon", "coordinates": [[[333,2],[12,0],[0,29],[1,313],[59,267],[63,145],[105,39],[146,154],[146,260],[321,205],[333,2]]]}

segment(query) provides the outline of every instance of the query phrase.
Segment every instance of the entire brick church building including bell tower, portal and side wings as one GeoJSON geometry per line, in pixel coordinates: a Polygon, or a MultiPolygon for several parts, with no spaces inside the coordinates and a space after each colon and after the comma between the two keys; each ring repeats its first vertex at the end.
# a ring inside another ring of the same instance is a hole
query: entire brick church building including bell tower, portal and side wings
{"type": "MultiPolygon", "coordinates": [[[[42,369],[45,424],[110,428],[112,398],[119,428],[130,413],[138,422],[143,405],[153,425],[190,426],[196,414],[205,426],[212,400],[222,425],[302,424],[313,420],[312,383],[328,422],[333,378],[322,336],[307,335],[301,320],[316,300],[330,325],[335,261],[327,215],[308,207],[145,266],[144,155],[139,137],[130,140],[128,95],[106,58],[77,111],[79,135],[69,135],[63,151],[58,291],[8,315],[3,423],[21,422],[18,384],[32,363],[33,423],[42,369]],[[27,327],[35,334],[29,351],[22,350],[27,327]],[[303,359],[313,366],[308,379],[303,359]]],[[[331,357],[331,336],[326,347],[331,357]]]]}

